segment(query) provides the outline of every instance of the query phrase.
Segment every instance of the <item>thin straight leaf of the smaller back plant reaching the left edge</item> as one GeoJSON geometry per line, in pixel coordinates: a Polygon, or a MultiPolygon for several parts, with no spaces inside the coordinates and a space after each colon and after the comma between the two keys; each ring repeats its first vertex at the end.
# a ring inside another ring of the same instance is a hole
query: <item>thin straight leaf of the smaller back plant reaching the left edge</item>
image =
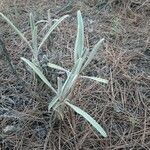
{"type": "Polygon", "coordinates": [[[22,40],[24,40],[27,45],[30,47],[30,49],[32,50],[32,46],[30,45],[30,43],[28,42],[28,40],[24,37],[23,33],[21,33],[17,27],[15,27],[15,25],[2,13],[0,13],[0,15],[2,16],[2,18],[16,31],[16,33],[22,38],[22,40]]]}

